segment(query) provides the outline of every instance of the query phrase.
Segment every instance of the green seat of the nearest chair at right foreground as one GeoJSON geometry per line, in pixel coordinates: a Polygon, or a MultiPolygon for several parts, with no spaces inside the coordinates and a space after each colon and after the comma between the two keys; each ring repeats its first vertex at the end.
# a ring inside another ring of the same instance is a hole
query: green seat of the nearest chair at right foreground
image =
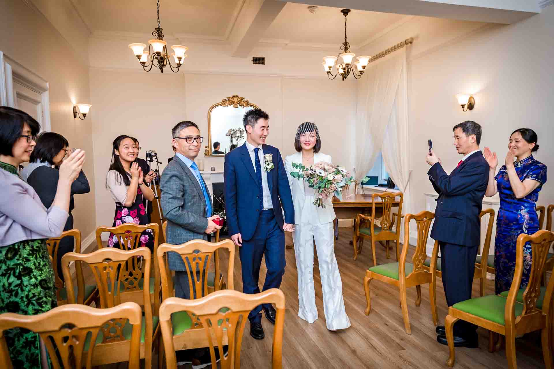
{"type": "MultiPolygon", "coordinates": [[[[504,325],[504,309],[506,299],[498,295],[487,295],[479,298],[461,301],[452,307],[461,311],[468,312],[471,315],[479,316],[483,319],[493,321],[504,325]]],[[[515,316],[521,315],[523,304],[515,303],[515,316]]]]}

